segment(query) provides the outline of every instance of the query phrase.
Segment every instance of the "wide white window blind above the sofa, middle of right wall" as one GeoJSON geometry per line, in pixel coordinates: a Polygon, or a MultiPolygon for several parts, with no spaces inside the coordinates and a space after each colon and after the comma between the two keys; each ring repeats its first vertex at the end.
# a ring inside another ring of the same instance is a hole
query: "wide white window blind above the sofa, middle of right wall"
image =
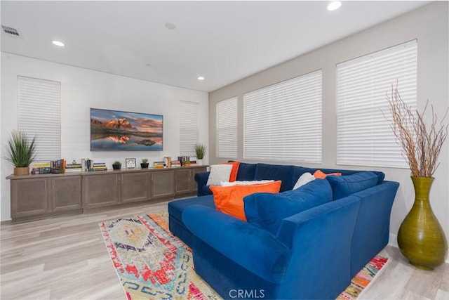
{"type": "Polygon", "coordinates": [[[243,158],[321,162],[321,70],[243,95],[243,158]]]}

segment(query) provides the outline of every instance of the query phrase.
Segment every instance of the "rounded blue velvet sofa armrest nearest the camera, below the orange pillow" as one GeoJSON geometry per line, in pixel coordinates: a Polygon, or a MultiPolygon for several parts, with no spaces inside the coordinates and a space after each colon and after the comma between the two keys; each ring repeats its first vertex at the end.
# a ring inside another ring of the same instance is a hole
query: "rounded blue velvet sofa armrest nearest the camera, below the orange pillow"
{"type": "Polygon", "coordinates": [[[195,239],[260,278],[274,283],[283,279],[290,249],[272,233],[202,205],[187,207],[182,213],[182,221],[195,239]]]}

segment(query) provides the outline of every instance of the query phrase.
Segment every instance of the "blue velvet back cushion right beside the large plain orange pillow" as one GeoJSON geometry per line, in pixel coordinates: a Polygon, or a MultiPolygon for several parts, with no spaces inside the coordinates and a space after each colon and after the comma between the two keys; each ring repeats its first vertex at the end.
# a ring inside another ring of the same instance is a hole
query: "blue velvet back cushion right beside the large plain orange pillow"
{"type": "Polygon", "coordinates": [[[243,199],[248,223],[276,235],[284,218],[332,201],[328,181],[315,179],[296,190],[279,194],[255,193],[243,199]]]}

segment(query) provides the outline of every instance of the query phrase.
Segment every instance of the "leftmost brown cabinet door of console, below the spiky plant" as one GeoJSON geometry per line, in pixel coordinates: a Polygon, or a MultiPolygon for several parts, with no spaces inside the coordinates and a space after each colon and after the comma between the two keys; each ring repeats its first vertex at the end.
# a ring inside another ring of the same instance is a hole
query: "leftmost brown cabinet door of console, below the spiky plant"
{"type": "Polygon", "coordinates": [[[48,213],[48,178],[11,181],[11,218],[48,213]]]}

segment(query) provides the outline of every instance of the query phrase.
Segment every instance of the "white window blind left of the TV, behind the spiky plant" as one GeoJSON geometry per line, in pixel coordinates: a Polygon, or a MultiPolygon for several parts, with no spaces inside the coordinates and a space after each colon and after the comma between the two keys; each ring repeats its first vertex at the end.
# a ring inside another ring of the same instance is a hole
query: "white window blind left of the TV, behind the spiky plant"
{"type": "Polygon", "coordinates": [[[61,158],[61,83],[18,76],[18,130],[36,136],[35,162],[61,158]]]}

